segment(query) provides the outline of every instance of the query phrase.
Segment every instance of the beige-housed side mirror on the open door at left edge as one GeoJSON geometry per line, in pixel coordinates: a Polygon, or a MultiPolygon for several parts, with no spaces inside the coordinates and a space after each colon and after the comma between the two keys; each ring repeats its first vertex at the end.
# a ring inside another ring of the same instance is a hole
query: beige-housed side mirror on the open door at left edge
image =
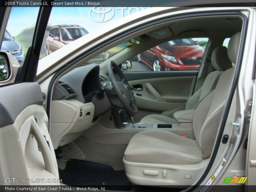
{"type": "Polygon", "coordinates": [[[0,85],[13,83],[20,67],[18,60],[10,53],[0,52],[0,85]]]}

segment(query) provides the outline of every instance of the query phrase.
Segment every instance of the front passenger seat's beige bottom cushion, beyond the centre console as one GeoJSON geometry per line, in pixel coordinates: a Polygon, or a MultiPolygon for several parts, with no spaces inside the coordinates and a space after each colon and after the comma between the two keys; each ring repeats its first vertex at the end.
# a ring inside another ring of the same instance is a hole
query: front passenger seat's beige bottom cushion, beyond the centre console
{"type": "Polygon", "coordinates": [[[178,121],[171,117],[167,117],[164,115],[157,115],[157,114],[152,114],[152,115],[147,115],[143,117],[140,120],[140,123],[146,123],[146,124],[178,124],[178,121]]]}

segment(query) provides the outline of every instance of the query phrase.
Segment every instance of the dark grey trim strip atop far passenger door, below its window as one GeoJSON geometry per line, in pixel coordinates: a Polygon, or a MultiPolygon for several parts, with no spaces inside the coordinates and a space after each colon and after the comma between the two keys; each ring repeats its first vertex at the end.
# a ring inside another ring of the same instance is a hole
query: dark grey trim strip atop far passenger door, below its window
{"type": "Polygon", "coordinates": [[[161,77],[181,77],[197,76],[198,71],[143,71],[143,72],[125,72],[124,76],[127,81],[139,79],[151,79],[161,77]]]}

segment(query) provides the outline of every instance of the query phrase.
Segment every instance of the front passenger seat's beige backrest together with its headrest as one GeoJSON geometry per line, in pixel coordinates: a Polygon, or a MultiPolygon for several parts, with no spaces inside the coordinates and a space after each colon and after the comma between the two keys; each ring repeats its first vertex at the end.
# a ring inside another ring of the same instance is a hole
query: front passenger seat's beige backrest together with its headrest
{"type": "Polygon", "coordinates": [[[209,73],[204,80],[204,84],[197,90],[187,101],[185,110],[195,109],[198,104],[212,92],[218,79],[223,71],[232,67],[232,63],[228,58],[227,48],[224,46],[216,47],[212,52],[212,66],[217,70],[209,73]]]}

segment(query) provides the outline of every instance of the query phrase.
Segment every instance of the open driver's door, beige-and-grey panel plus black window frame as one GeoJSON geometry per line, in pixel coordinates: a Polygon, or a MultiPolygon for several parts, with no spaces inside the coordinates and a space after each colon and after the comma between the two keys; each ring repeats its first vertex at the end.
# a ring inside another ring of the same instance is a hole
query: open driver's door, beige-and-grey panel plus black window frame
{"type": "MultiPolygon", "coordinates": [[[[10,9],[1,8],[0,44],[10,9]]],[[[42,106],[43,96],[39,84],[34,82],[44,38],[41,32],[46,30],[50,13],[51,7],[39,8],[34,35],[31,36],[32,44],[15,79],[18,83],[0,86],[1,185],[59,184],[57,161],[48,132],[48,117],[42,106]]],[[[7,61],[10,65],[13,62],[12,58],[7,61]]]]}

